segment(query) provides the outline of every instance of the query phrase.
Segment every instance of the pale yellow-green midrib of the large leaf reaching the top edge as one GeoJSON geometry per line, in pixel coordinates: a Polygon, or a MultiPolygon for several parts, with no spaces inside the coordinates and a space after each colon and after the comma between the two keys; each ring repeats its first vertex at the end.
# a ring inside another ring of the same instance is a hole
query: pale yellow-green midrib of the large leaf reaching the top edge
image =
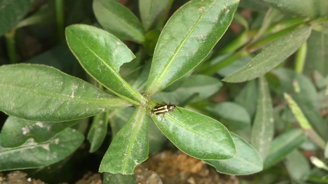
{"type": "Polygon", "coordinates": [[[176,55],[179,53],[180,49],[182,48],[182,46],[184,45],[184,43],[186,42],[186,40],[188,39],[188,37],[192,34],[192,32],[194,31],[194,29],[196,28],[196,26],[199,24],[199,22],[201,21],[201,19],[203,18],[203,16],[207,13],[207,11],[209,11],[212,6],[216,3],[217,0],[215,0],[212,5],[210,5],[203,13],[201,13],[201,15],[199,16],[198,20],[196,21],[196,23],[193,25],[193,27],[188,31],[187,35],[182,39],[182,41],[180,42],[180,44],[178,45],[178,47],[174,50],[173,55],[171,56],[171,58],[167,61],[167,64],[165,64],[164,69],[162,70],[161,74],[155,79],[154,84],[156,84],[156,86],[159,84],[159,82],[161,82],[163,80],[163,78],[165,76],[167,76],[167,72],[168,70],[171,68],[170,65],[172,64],[174,58],[176,57],[176,55]]]}

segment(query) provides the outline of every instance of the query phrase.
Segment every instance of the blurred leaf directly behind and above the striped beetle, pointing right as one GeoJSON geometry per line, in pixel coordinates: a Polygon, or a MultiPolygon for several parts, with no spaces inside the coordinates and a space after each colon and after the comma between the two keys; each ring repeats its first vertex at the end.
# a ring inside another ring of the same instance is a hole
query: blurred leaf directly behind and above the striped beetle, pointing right
{"type": "Polygon", "coordinates": [[[222,82],[207,75],[191,75],[184,80],[182,85],[173,92],[159,92],[153,96],[153,99],[164,102],[175,102],[180,104],[187,100],[194,93],[199,93],[199,96],[193,98],[188,103],[194,103],[204,100],[219,91],[222,87],[222,82]]]}

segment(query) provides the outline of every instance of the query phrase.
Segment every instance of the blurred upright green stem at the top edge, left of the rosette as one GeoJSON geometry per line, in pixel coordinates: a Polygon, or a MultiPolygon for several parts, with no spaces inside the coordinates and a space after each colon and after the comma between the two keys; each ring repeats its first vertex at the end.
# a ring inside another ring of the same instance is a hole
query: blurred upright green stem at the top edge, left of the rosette
{"type": "Polygon", "coordinates": [[[58,42],[64,40],[64,0],[54,0],[58,42]]]}

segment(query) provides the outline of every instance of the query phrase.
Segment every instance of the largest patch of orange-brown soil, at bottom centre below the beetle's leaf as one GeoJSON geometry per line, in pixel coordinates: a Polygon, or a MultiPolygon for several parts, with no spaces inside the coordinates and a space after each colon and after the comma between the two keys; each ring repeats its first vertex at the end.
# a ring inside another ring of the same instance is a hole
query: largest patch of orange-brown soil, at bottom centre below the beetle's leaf
{"type": "Polygon", "coordinates": [[[138,165],[134,176],[138,184],[239,184],[236,176],[219,174],[199,159],[171,151],[138,165]]]}

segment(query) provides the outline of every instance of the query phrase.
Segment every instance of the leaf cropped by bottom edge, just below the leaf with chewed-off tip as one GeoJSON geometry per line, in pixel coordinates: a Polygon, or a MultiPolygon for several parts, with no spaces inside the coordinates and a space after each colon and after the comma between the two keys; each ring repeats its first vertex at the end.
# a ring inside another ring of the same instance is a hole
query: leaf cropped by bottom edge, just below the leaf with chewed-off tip
{"type": "Polygon", "coordinates": [[[104,173],[103,184],[113,184],[113,183],[124,183],[124,184],[136,184],[134,175],[122,175],[122,174],[112,174],[104,173]]]}

